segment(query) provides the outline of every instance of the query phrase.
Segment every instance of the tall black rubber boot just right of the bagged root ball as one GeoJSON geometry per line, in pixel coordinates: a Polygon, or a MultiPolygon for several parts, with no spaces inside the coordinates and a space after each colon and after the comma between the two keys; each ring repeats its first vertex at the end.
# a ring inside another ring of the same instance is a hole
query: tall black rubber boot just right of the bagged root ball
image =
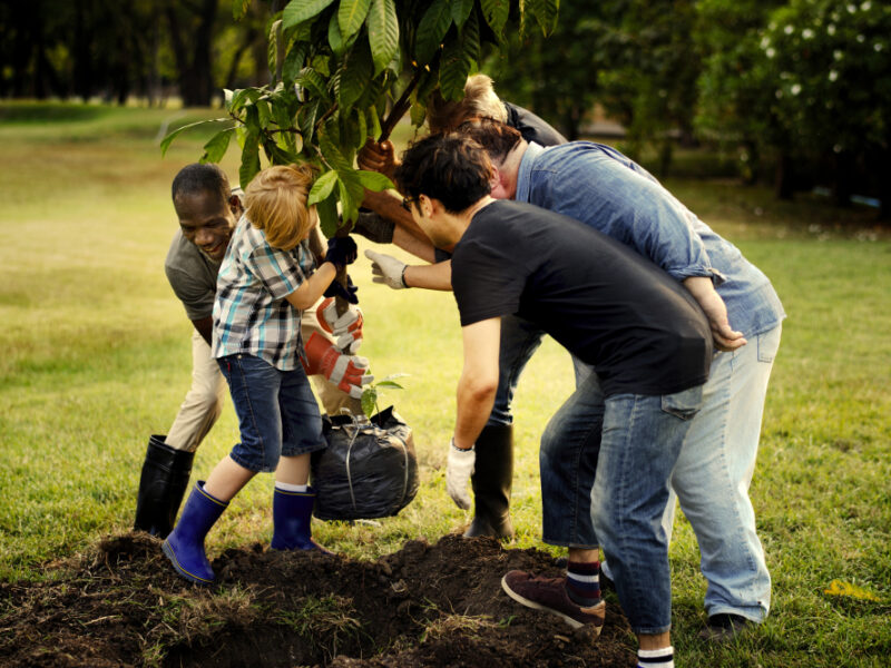
{"type": "Polygon", "coordinates": [[[483,428],[476,444],[473,521],[464,538],[491,536],[513,538],[510,523],[510,487],[513,482],[513,426],[496,424],[483,428]]]}

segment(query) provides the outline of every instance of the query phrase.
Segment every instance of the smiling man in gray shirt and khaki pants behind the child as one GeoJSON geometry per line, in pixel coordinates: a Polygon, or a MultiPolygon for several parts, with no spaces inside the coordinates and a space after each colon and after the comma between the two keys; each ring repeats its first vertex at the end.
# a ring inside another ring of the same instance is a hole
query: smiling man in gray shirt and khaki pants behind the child
{"type": "MultiPolygon", "coordinates": [[[[164,269],[174,293],[192,321],[192,387],[166,435],[149,438],[139,481],[134,529],[165,538],[173,529],[192,472],[192,461],[202,440],[219,418],[226,383],[210,356],[213,308],[219,265],[228,248],[232,230],[242,216],[241,189],[232,190],[225,173],[216,165],[184,167],[173,181],[173,202],[179,218],[164,269]]],[[[350,306],[337,317],[334,299],[324,298],[303,314],[303,341],[314,333],[323,336],[336,355],[352,355],[362,340],[362,313],[350,306]],[[341,353],[344,351],[345,353],[341,353]]],[[[356,365],[368,361],[353,357],[356,365]]],[[[322,375],[313,384],[324,410],[361,413],[361,387],[339,377],[335,363],[314,367],[322,375]]],[[[344,365],[341,365],[344,366],[344,365]]],[[[342,373],[342,372],[341,372],[342,373]]]]}

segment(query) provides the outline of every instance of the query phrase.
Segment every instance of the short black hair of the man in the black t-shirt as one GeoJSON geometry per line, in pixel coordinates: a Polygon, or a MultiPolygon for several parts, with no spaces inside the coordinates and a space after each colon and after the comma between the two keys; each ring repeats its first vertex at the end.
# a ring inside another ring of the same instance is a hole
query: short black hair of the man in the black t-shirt
{"type": "Polygon", "coordinates": [[[395,180],[402,194],[439,199],[452,214],[491,191],[492,164],[482,147],[458,132],[430,135],[402,154],[395,180]]]}

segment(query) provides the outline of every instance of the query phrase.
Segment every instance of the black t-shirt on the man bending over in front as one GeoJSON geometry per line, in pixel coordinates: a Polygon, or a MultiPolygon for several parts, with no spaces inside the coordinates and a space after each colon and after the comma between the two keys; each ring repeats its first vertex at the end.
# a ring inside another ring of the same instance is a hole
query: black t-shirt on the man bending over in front
{"type": "Polygon", "coordinates": [[[497,200],[452,256],[461,325],[517,314],[597,369],[607,395],[672,394],[704,383],[712,334],[677,282],[568,216],[497,200]]]}

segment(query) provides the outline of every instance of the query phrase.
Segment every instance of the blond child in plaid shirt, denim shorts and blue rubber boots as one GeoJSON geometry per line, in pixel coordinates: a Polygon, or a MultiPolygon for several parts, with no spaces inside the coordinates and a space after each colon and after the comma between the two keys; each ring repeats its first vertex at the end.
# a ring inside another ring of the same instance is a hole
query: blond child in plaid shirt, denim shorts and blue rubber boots
{"type": "MultiPolygon", "coordinates": [[[[260,472],[275,472],[271,547],[330,553],[311,536],[310,455],[326,443],[306,377],[300,312],[355,259],[356,247],[349,237],[333,238],[316,267],[307,243],[319,222],[306,206],[313,176],[305,165],[261,171],[245,190],[246,210],[219,267],[213,356],[229,385],[241,443],[196,483],[163,546],[176,571],[199,584],[214,580],[207,532],[260,472]]],[[[344,377],[361,386],[366,362],[343,358],[344,377]]]]}

